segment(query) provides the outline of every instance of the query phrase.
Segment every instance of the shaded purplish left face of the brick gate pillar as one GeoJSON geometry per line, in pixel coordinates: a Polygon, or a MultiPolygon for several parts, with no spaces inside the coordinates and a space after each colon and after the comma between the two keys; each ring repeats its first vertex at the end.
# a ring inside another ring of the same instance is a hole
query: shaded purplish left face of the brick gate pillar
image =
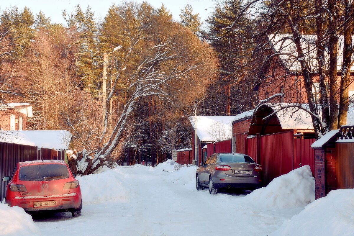
{"type": "Polygon", "coordinates": [[[315,150],[315,199],[325,197],[325,150],[315,150]]]}

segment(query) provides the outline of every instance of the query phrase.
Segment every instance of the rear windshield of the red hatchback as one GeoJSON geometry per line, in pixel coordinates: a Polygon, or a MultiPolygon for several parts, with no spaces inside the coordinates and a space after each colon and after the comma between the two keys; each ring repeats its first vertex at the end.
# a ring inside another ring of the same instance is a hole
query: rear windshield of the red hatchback
{"type": "Polygon", "coordinates": [[[19,169],[20,180],[25,181],[49,181],[65,179],[69,177],[67,166],[61,164],[40,164],[22,166],[19,169]]]}

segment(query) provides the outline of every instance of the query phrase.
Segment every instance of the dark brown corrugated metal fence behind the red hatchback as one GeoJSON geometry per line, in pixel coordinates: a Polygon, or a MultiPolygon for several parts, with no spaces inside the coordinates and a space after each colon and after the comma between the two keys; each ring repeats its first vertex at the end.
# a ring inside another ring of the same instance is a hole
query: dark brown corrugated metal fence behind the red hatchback
{"type": "Polygon", "coordinates": [[[5,197],[6,185],[2,178],[12,175],[17,162],[36,160],[65,160],[65,150],[0,142],[0,200],[5,197]]]}

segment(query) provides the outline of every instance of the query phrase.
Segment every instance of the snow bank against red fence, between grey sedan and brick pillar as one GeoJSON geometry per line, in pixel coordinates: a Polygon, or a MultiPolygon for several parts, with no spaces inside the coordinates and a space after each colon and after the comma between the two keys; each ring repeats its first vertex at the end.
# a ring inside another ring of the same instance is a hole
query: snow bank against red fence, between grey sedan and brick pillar
{"type": "Polygon", "coordinates": [[[303,166],[254,190],[245,200],[262,208],[303,206],[315,200],[315,179],[310,167],[303,166]]]}

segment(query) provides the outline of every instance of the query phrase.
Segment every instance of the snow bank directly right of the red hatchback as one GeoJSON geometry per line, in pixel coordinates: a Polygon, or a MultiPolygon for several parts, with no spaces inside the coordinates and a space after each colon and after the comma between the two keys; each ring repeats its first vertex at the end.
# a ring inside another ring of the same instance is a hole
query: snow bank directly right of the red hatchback
{"type": "Polygon", "coordinates": [[[103,166],[96,174],[77,176],[84,204],[104,201],[126,202],[130,196],[130,187],[117,171],[103,166]]]}

